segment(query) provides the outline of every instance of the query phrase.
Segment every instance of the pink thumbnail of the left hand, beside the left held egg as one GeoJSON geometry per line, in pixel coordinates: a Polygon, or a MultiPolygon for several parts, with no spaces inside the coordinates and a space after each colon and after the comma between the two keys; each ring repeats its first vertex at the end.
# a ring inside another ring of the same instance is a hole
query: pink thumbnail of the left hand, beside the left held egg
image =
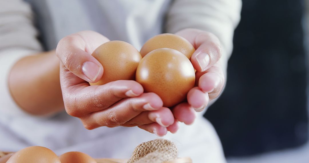
{"type": "Polygon", "coordinates": [[[83,73],[92,81],[99,76],[99,73],[102,71],[102,68],[97,64],[87,61],[83,64],[83,73]]]}

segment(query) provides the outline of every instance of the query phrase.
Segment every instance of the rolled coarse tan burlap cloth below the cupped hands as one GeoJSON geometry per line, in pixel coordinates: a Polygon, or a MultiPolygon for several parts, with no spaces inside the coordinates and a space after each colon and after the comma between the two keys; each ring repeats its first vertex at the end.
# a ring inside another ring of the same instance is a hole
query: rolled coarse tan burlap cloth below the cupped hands
{"type": "Polygon", "coordinates": [[[155,139],[139,144],[127,163],[162,163],[178,156],[176,145],[170,140],[155,139]]]}

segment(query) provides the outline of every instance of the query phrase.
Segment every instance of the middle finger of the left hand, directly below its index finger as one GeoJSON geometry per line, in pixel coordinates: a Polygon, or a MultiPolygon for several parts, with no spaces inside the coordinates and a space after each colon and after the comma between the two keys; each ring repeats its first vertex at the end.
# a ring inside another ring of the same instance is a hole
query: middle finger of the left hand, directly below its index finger
{"type": "Polygon", "coordinates": [[[100,126],[118,126],[133,119],[142,111],[148,111],[149,108],[145,108],[148,103],[155,109],[163,106],[163,102],[157,94],[144,93],[138,97],[122,99],[107,109],[92,112],[81,119],[87,129],[100,126]]]}

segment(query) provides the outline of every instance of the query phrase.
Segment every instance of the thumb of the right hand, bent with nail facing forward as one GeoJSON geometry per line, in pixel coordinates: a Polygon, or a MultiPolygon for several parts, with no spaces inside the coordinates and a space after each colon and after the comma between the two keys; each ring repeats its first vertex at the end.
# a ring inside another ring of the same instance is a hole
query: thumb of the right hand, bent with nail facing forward
{"type": "Polygon", "coordinates": [[[176,34],[187,39],[196,49],[191,62],[198,72],[206,71],[221,58],[221,43],[214,34],[197,29],[185,29],[176,34]]]}

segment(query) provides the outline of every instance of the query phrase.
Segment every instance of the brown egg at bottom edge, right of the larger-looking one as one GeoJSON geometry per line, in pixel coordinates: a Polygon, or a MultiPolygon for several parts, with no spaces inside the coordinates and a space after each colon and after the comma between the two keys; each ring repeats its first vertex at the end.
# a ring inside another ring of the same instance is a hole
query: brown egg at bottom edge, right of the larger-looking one
{"type": "Polygon", "coordinates": [[[97,163],[95,159],[82,152],[67,152],[59,156],[61,163],[97,163]]]}

